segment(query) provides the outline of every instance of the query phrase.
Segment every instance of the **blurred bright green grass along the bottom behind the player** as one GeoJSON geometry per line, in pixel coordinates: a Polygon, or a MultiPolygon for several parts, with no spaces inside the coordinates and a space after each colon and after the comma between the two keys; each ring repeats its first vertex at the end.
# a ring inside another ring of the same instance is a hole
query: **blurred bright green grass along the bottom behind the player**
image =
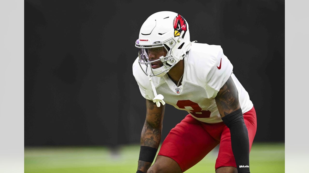
{"type": "MultiPolygon", "coordinates": [[[[120,147],[112,155],[106,147],[25,147],[25,173],[136,172],[138,145],[120,147]]],[[[214,173],[218,151],[211,151],[186,173],[214,173]]],[[[284,143],[253,143],[250,171],[284,172],[284,143]]]]}

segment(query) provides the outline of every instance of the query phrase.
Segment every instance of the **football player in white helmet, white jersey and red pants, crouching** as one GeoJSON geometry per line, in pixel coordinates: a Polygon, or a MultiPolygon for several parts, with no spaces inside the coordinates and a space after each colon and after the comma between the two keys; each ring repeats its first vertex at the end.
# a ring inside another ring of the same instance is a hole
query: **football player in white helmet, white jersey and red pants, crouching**
{"type": "Polygon", "coordinates": [[[146,99],[138,173],[184,172],[220,143],[216,173],[249,171],[256,112],[221,46],[190,42],[188,22],[162,11],[143,23],[133,75],[146,99]],[[157,153],[165,103],[189,114],[157,153]]]}

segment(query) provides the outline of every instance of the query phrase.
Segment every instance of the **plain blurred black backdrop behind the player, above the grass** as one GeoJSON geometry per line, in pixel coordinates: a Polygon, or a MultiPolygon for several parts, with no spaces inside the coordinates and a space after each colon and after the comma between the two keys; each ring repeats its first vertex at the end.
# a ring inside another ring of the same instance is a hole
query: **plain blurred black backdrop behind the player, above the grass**
{"type": "MultiPolygon", "coordinates": [[[[25,1],[25,146],[139,143],[134,42],[174,11],[221,45],[257,113],[255,142],[284,141],[284,1],[25,1]]],[[[188,113],[167,105],[162,141],[188,113]]]]}

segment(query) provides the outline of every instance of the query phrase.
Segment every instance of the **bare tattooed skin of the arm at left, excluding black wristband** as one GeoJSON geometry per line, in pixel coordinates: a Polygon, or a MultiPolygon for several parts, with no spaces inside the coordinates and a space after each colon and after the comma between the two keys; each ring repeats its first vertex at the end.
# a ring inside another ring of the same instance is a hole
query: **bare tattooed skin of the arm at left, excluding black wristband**
{"type": "MultiPolygon", "coordinates": [[[[161,141],[162,121],[165,105],[157,107],[156,103],[146,99],[146,120],[141,135],[141,146],[158,149],[161,141]]],[[[150,162],[138,161],[138,170],[147,172],[150,162]]]]}

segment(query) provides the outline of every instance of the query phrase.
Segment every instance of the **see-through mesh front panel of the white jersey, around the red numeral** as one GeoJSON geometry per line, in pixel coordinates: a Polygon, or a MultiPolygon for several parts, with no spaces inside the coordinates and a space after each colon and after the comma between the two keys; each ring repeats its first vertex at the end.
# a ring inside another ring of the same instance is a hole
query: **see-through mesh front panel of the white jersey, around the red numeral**
{"type": "Polygon", "coordinates": [[[205,123],[222,122],[215,99],[214,98],[208,99],[208,94],[205,88],[203,88],[202,86],[199,86],[193,82],[184,80],[183,89],[182,91],[180,91],[180,94],[177,95],[176,92],[172,91],[170,87],[168,86],[168,84],[164,82],[156,86],[156,91],[158,94],[162,94],[164,96],[163,100],[165,101],[165,103],[170,104],[179,110],[185,110],[190,113],[190,110],[193,110],[190,107],[185,107],[188,109],[181,109],[176,105],[179,100],[190,100],[194,103],[197,103],[201,107],[202,110],[210,111],[211,114],[209,118],[197,118],[190,113],[192,117],[194,117],[195,119],[201,122],[205,122],[205,123]]]}

